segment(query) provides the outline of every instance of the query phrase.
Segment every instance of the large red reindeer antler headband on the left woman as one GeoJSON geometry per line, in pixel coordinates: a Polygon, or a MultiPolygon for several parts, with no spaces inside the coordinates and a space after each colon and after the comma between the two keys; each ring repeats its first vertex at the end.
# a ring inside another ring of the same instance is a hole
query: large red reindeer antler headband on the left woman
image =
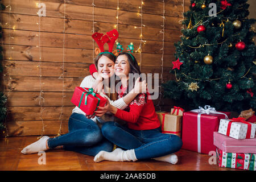
{"type": "Polygon", "coordinates": [[[92,35],[92,38],[95,40],[95,42],[98,44],[98,47],[100,48],[100,53],[98,55],[101,55],[102,53],[110,53],[111,55],[115,56],[112,51],[115,44],[115,40],[118,39],[118,31],[112,30],[106,33],[107,35],[100,34],[98,32],[95,32],[92,35]],[[108,43],[109,45],[109,51],[104,51],[104,44],[108,43]]]}

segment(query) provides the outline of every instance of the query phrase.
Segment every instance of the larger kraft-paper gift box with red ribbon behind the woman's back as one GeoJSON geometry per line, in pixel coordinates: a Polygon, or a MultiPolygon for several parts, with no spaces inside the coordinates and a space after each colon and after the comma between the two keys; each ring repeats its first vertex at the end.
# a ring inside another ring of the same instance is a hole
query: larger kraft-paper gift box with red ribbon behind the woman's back
{"type": "Polygon", "coordinates": [[[162,133],[181,137],[182,116],[159,111],[156,114],[161,123],[162,133]]]}

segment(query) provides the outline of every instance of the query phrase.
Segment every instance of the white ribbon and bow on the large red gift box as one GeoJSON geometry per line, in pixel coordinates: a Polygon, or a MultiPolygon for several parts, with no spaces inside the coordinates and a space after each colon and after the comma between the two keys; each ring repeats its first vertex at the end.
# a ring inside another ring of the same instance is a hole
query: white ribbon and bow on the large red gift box
{"type": "Polygon", "coordinates": [[[228,119],[228,115],[217,112],[214,107],[210,107],[209,105],[205,105],[204,108],[199,106],[199,109],[191,111],[199,113],[197,114],[197,152],[201,153],[201,114],[224,114],[226,119],[228,119]]]}

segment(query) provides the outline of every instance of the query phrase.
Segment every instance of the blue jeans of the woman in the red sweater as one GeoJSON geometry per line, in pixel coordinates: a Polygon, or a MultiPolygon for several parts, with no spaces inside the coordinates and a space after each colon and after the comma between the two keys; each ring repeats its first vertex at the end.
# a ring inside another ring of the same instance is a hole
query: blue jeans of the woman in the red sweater
{"type": "Polygon", "coordinates": [[[117,122],[106,122],[102,135],[126,150],[134,149],[137,159],[151,159],[179,151],[182,140],[177,135],[163,134],[160,127],[152,130],[131,130],[117,122]]]}

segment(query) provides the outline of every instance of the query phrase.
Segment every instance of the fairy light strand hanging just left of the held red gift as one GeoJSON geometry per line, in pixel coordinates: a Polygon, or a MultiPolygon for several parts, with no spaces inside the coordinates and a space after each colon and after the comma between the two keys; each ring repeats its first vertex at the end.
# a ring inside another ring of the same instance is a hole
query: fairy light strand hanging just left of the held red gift
{"type": "Polygon", "coordinates": [[[60,107],[60,128],[57,136],[60,136],[61,133],[61,126],[63,122],[63,100],[64,100],[64,60],[65,60],[65,16],[66,16],[66,0],[64,0],[64,17],[63,17],[63,60],[62,60],[62,73],[59,78],[62,78],[62,98],[61,98],[61,107],[60,107]]]}

